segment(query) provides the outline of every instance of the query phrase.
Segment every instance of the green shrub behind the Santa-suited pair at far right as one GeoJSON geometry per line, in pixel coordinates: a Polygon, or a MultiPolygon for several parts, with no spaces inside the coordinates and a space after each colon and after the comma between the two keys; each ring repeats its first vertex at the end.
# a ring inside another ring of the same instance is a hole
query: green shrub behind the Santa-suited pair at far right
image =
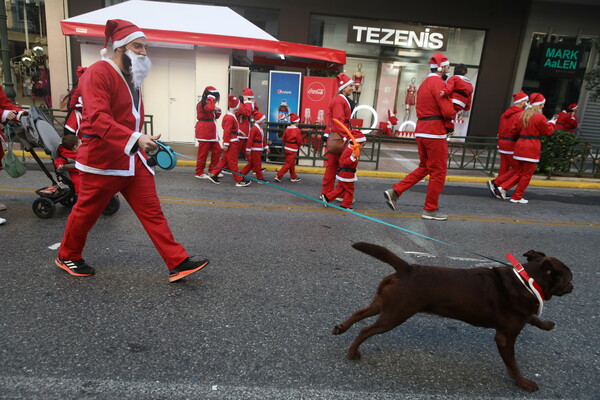
{"type": "Polygon", "coordinates": [[[538,172],[552,175],[552,172],[569,172],[574,147],[579,140],[571,132],[554,131],[551,136],[542,138],[542,155],[538,172]]]}

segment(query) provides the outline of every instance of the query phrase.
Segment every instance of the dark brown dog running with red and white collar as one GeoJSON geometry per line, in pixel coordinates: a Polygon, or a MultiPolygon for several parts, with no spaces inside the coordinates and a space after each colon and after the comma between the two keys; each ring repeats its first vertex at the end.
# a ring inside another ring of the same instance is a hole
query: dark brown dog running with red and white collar
{"type": "MultiPolygon", "coordinates": [[[[363,242],[352,247],[390,264],[396,273],[383,278],[371,305],[333,328],[333,334],[339,335],[354,323],[379,314],[377,321],[360,331],[348,349],[349,359],[360,359],[358,347],[369,337],[387,332],[417,313],[437,314],[495,329],[496,345],[508,375],[528,392],[538,390],[537,384],[521,375],[517,367],[515,341],[527,323],[547,331],[555,324],[536,317],[538,299],[513,268],[411,265],[385,247],[363,242]]],[[[561,261],[533,250],[523,255],[527,257],[523,267],[539,284],[545,300],[571,293],[573,275],[561,261]]]]}

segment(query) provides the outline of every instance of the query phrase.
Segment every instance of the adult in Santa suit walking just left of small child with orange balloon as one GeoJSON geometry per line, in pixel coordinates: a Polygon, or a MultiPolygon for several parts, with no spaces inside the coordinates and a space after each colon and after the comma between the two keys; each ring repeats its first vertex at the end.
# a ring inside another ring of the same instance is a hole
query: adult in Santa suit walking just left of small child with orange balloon
{"type": "MultiPolygon", "coordinates": [[[[352,92],[354,91],[354,81],[350,79],[350,77],[346,74],[339,74],[337,76],[338,83],[338,94],[331,100],[329,103],[329,125],[323,134],[323,140],[327,145],[327,149],[325,151],[325,173],[323,174],[323,183],[321,185],[321,194],[329,193],[333,190],[335,184],[335,175],[340,166],[340,155],[342,150],[334,154],[332,153],[333,144],[330,142],[331,132],[335,132],[341,136],[341,140],[346,142],[348,138],[346,137],[346,133],[342,128],[333,123],[332,118],[337,119],[341,123],[343,123],[348,130],[350,127],[350,117],[352,115],[352,110],[354,110],[355,103],[350,98],[352,92]]],[[[337,136],[337,135],[335,135],[337,136]]],[[[332,140],[339,140],[331,138],[332,140]]]]}

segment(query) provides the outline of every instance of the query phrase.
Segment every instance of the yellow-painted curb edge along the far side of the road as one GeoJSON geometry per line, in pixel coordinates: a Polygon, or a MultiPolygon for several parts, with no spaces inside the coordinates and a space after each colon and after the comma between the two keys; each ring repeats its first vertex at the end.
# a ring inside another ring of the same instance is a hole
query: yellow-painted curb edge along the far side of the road
{"type": "MultiPolygon", "coordinates": [[[[15,151],[15,155],[22,157],[23,150],[15,151]]],[[[46,153],[36,152],[40,158],[49,159],[46,153]]],[[[28,153],[25,153],[27,156],[28,153]]],[[[177,160],[178,166],[183,167],[195,167],[196,161],[188,160],[177,160]]],[[[277,172],[280,168],[279,165],[263,164],[263,168],[266,171],[277,172]]],[[[296,171],[304,174],[317,174],[322,175],[325,172],[323,167],[307,167],[307,166],[296,166],[296,171]]],[[[391,179],[403,179],[408,174],[405,172],[389,172],[389,171],[367,171],[359,170],[358,176],[370,177],[370,178],[391,178],[391,179]]],[[[425,178],[426,180],[429,178],[425,178]]],[[[477,176],[461,176],[461,175],[446,175],[446,182],[464,182],[464,183],[486,183],[490,177],[477,177],[477,176]]],[[[529,186],[538,187],[555,187],[555,188],[571,188],[571,189],[600,189],[600,181],[596,182],[591,179],[585,178],[567,178],[565,179],[532,179],[529,186]]]]}

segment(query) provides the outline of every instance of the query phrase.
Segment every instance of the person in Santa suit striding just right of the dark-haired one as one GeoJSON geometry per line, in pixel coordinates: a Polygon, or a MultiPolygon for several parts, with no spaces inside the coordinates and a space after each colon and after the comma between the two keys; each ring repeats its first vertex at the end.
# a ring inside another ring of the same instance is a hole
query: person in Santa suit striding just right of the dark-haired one
{"type": "Polygon", "coordinates": [[[233,95],[228,95],[227,106],[229,110],[221,122],[221,126],[223,127],[223,155],[215,170],[208,175],[208,179],[212,183],[221,183],[219,173],[223,169],[226,169],[232,173],[235,186],[244,187],[250,185],[250,180],[243,178],[238,170],[238,132],[240,124],[235,117],[235,112],[240,107],[240,99],[233,95]]]}

